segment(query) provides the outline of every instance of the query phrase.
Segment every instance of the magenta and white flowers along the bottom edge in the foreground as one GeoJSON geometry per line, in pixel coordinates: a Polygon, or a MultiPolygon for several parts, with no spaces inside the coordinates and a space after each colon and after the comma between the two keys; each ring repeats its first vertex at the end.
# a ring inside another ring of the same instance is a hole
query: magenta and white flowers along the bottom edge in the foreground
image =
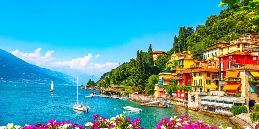
{"type": "MultiPolygon", "coordinates": [[[[141,120],[136,118],[130,120],[130,117],[126,117],[126,112],[119,114],[116,117],[106,119],[98,115],[94,115],[94,121],[87,122],[85,126],[89,129],[145,129],[140,127],[141,120]]],[[[217,129],[209,124],[204,124],[202,121],[192,122],[188,120],[189,116],[182,116],[177,119],[177,116],[171,117],[170,120],[164,118],[158,125],[157,129],[217,129]]],[[[56,120],[49,120],[48,124],[36,123],[35,125],[19,126],[9,123],[6,126],[0,126],[0,129],[86,129],[79,124],[71,124],[69,121],[57,122],[56,120]]],[[[232,129],[231,127],[219,127],[222,129],[232,129]]]]}

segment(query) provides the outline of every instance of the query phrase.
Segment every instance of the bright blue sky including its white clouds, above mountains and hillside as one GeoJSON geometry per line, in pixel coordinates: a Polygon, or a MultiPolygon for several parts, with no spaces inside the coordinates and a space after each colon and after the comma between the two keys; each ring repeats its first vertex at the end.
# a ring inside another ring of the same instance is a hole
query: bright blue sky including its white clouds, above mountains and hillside
{"type": "Polygon", "coordinates": [[[155,51],[170,50],[180,26],[205,24],[219,14],[220,2],[0,1],[0,47],[40,67],[100,77],[149,44],[155,51]]]}

